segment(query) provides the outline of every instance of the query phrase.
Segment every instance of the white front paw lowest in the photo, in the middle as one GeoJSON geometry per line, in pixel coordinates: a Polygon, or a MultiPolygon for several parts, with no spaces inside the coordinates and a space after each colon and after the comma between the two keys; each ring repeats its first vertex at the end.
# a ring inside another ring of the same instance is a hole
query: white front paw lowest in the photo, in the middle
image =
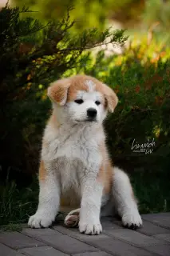
{"type": "Polygon", "coordinates": [[[79,222],[79,230],[85,234],[100,234],[102,226],[100,222],[79,222]]]}

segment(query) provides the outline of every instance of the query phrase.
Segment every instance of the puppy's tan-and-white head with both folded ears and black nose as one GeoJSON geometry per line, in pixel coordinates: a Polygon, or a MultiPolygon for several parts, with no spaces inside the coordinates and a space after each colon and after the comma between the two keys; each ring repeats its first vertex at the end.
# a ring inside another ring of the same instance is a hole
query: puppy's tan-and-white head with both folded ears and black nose
{"type": "Polygon", "coordinates": [[[87,75],[53,82],[48,96],[65,121],[74,123],[102,122],[108,111],[113,113],[118,102],[109,86],[87,75]]]}

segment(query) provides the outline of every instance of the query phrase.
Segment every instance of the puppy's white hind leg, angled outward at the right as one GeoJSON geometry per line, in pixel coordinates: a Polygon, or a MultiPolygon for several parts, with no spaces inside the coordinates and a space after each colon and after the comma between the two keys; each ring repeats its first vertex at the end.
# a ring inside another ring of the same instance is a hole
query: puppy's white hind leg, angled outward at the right
{"type": "Polygon", "coordinates": [[[113,169],[113,199],[124,226],[136,229],[142,225],[128,175],[117,167],[113,169]]]}

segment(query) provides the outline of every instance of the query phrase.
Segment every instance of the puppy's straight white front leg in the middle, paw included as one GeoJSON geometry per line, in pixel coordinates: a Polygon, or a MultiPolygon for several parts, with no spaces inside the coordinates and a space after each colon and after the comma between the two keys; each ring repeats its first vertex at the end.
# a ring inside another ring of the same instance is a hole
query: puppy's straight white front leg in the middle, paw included
{"type": "Polygon", "coordinates": [[[82,185],[79,230],[85,234],[100,234],[101,196],[103,186],[97,178],[86,178],[82,185]]]}

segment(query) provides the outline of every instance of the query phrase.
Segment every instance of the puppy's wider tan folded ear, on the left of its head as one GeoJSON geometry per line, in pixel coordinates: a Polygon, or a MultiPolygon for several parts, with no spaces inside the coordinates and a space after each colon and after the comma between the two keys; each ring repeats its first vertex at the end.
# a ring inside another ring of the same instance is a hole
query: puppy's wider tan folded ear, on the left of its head
{"type": "Polygon", "coordinates": [[[68,78],[52,82],[47,90],[47,95],[52,102],[57,102],[60,106],[63,106],[67,100],[69,86],[68,78]]]}

